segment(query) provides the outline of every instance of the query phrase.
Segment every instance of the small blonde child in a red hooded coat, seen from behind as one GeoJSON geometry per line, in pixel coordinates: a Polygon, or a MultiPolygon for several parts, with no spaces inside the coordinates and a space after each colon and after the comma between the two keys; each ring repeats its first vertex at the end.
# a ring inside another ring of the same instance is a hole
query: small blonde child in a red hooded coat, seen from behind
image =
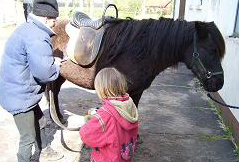
{"type": "Polygon", "coordinates": [[[102,107],[81,127],[80,136],[92,147],[91,162],[130,162],[138,134],[138,110],[127,92],[124,76],[115,68],[95,78],[102,107]]]}

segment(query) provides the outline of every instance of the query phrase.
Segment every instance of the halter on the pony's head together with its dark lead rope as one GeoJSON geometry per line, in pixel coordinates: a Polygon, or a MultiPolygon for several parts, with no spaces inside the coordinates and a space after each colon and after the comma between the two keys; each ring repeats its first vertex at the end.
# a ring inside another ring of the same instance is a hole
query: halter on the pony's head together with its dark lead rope
{"type": "MultiPolygon", "coordinates": [[[[211,72],[209,70],[207,70],[205,68],[205,66],[203,65],[201,59],[199,58],[199,52],[197,50],[197,32],[194,32],[194,36],[193,36],[193,58],[192,58],[192,63],[191,63],[191,69],[198,69],[202,74],[202,76],[204,76],[204,78],[206,79],[210,79],[212,76],[215,75],[220,75],[223,74],[223,71],[219,71],[219,72],[211,72]]],[[[239,109],[238,106],[232,106],[232,105],[228,105],[228,104],[224,104],[218,100],[216,100],[215,98],[212,97],[212,95],[210,93],[207,94],[207,96],[213,100],[214,102],[229,107],[229,108],[233,108],[233,109],[239,109]]]]}

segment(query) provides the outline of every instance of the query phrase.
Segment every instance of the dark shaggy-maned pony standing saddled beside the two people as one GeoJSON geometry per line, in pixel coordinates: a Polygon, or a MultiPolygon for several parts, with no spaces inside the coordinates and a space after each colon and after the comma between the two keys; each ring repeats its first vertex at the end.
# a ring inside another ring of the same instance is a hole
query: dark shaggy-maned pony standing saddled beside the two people
{"type": "MultiPolygon", "coordinates": [[[[63,55],[68,37],[66,21],[55,27],[55,55],[63,55]]],[[[61,77],[52,91],[58,106],[58,93],[65,79],[81,87],[94,89],[94,77],[102,68],[115,67],[128,82],[128,93],[136,105],[154,78],[167,67],[183,62],[200,80],[205,90],[215,92],[224,83],[221,59],[225,52],[223,37],[213,22],[187,22],[160,18],[120,20],[105,31],[101,53],[88,67],[66,61],[61,77]]],[[[60,115],[58,113],[58,115],[60,115]]]]}

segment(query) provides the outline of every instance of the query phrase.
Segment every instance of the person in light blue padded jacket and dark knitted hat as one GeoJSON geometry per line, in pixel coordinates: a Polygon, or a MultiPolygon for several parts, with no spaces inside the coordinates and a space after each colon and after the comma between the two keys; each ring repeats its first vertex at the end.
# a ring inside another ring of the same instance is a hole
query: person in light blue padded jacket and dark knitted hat
{"type": "MultiPolygon", "coordinates": [[[[50,41],[58,15],[56,0],[34,0],[27,22],[13,31],[2,55],[0,104],[13,115],[20,134],[18,162],[31,159],[32,146],[41,134],[38,103],[46,83],[59,75],[61,60],[54,59],[50,41]]],[[[40,149],[45,147],[41,141],[40,149]]]]}

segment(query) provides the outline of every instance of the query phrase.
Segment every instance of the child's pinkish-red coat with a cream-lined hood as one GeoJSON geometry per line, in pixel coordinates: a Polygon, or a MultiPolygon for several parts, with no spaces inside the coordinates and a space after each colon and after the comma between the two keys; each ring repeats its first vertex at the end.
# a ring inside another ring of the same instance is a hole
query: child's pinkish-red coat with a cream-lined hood
{"type": "Polygon", "coordinates": [[[128,94],[107,98],[80,129],[83,142],[92,147],[93,162],[130,162],[138,134],[138,111],[128,94]]]}

